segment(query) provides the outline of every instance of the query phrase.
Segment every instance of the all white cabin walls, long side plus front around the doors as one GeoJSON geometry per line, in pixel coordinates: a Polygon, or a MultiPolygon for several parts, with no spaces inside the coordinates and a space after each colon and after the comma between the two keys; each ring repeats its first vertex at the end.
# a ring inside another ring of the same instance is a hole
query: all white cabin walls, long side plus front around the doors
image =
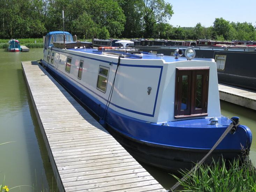
{"type": "MultiPolygon", "coordinates": [[[[44,52],[44,61],[48,60],[54,70],[98,101],[107,103],[118,57],[52,47],[44,52]],[[47,59],[49,51],[50,56],[47,59]],[[67,65],[67,61],[71,66],[67,65]],[[108,73],[107,79],[104,79],[107,81],[106,90],[97,88],[100,68],[108,73]]],[[[123,115],[154,123],[180,120],[174,118],[176,68],[191,67],[193,63],[193,67],[210,67],[207,117],[221,116],[215,62],[191,60],[163,63],[163,61],[122,58],[109,107],[123,115]]]]}

